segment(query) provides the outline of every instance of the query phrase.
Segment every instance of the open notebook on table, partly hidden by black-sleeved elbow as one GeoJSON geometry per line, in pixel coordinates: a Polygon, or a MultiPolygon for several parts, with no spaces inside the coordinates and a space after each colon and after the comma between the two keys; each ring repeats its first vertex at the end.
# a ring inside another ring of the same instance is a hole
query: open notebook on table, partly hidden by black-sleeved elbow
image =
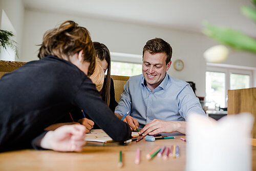
{"type": "MultiPolygon", "coordinates": [[[[137,132],[132,132],[132,136],[139,135],[137,132]]],[[[86,138],[84,139],[86,141],[91,142],[114,142],[112,138],[108,134],[106,134],[103,130],[91,130],[90,134],[86,134],[86,138]]]]}

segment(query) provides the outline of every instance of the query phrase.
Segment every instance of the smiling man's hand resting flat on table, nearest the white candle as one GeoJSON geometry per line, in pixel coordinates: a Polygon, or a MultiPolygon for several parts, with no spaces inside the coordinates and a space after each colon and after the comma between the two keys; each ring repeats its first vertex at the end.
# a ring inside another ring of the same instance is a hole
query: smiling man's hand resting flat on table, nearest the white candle
{"type": "Polygon", "coordinates": [[[185,121],[164,121],[159,119],[154,119],[150,123],[147,123],[139,134],[142,136],[156,135],[159,133],[172,133],[178,131],[182,134],[186,132],[186,122],[185,121]]]}

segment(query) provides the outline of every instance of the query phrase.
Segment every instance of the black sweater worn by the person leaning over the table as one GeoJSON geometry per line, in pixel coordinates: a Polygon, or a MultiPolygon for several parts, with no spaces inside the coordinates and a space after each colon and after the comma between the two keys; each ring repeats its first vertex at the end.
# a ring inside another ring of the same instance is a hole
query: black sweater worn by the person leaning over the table
{"type": "MultiPolygon", "coordinates": [[[[67,60],[47,56],[0,79],[0,151],[30,148],[44,129],[78,107],[112,139],[131,136],[92,81],[67,60]]],[[[80,116],[78,116],[80,117],[80,116]]]]}

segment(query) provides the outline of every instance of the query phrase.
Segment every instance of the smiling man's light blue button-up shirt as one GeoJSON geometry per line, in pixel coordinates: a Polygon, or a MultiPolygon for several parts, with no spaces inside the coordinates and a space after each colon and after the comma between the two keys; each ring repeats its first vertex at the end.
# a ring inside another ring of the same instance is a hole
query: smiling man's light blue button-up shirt
{"type": "Polygon", "coordinates": [[[139,129],[153,119],[185,121],[191,112],[205,115],[190,85],[167,73],[153,91],[147,88],[142,74],[130,77],[123,89],[115,113],[129,111],[138,120],[139,129]]]}

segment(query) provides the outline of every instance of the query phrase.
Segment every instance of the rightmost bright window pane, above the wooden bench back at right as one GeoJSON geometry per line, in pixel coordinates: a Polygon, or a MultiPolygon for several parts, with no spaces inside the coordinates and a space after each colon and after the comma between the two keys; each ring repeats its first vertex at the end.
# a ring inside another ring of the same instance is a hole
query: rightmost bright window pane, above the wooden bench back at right
{"type": "Polygon", "coordinates": [[[250,76],[243,74],[230,74],[230,90],[248,89],[250,76]]]}

